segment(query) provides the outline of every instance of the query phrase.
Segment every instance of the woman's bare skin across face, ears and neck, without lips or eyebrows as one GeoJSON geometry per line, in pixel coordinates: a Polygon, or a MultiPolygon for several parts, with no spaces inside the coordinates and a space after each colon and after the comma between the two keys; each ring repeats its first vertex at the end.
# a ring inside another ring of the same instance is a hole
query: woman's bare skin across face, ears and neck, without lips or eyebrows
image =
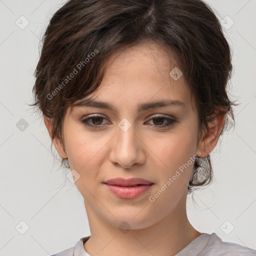
{"type": "MultiPolygon", "coordinates": [[[[96,107],[68,108],[63,121],[64,148],[53,143],[58,154],[68,158],[80,177],[75,182],[84,198],[91,237],[85,250],[94,255],[174,255],[201,235],[186,215],[187,184],[193,163],[153,202],[148,197],[166,183],[190,157],[204,157],[217,143],[224,115],[209,124],[197,141],[198,123],[194,101],[181,76],[174,80],[169,72],[174,60],[158,44],[139,44],[112,54],[108,69],[93,99],[107,101],[115,110],[96,107]],[[164,106],[137,111],[139,103],[175,99],[185,107],[164,106]],[[79,119],[101,125],[93,129],[79,119]],[[166,119],[175,118],[169,127],[166,119]],[[118,123],[126,118],[131,126],[123,131],[118,123]],[[158,126],[157,126],[158,125],[158,126]],[[197,143],[198,142],[198,143],[197,143]],[[206,150],[206,152],[205,152],[206,150]],[[199,153],[198,153],[199,152],[199,153]],[[116,197],[102,183],[115,177],[141,177],[154,184],[134,199],[116,197]],[[118,226],[126,221],[130,229],[118,226]],[[150,254],[151,253],[151,254],[150,254]]],[[[50,120],[44,118],[50,130],[50,120]]]]}

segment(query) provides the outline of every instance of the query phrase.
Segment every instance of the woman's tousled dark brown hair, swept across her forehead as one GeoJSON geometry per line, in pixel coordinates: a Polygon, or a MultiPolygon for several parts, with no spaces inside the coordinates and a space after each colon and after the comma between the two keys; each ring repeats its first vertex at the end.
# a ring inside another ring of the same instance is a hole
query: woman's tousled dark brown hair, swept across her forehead
{"type": "MultiPolygon", "coordinates": [[[[231,105],[236,104],[226,92],[232,70],[230,48],[205,2],[68,0],[50,19],[34,72],[31,106],[51,119],[51,139],[56,137],[64,147],[62,121],[67,107],[99,87],[104,63],[113,52],[143,41],[157,42],[174,53],[195,97],[199,136],[218,114],[226,113],[234,122],[231,105]]],[[[222,132],[227,122],[228,118],[222,132]]],[[[61,159],[61,165],[69,168],[67,159],[61,159]]],[[[187,192],[211,179],[210,156],[195,159],[187,192]]]]}

